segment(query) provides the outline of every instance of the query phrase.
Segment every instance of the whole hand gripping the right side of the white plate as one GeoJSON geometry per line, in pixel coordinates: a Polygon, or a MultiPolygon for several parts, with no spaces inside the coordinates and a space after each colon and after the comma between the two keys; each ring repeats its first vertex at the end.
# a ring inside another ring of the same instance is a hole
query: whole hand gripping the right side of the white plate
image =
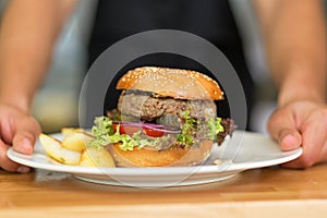
{"type": "Polygon", "coordinates": [[[269,118],[268,131],[282,150],[303,148],[303,155],[282,165],[307,168],[327,160],[327,106],[294,101],[278,108],[269,118]]]}

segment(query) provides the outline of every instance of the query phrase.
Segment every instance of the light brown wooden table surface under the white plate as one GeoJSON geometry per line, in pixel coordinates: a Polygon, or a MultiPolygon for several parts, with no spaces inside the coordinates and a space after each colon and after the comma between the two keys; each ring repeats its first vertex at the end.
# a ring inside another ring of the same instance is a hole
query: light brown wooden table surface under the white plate
{"type": "Polygon", "coordinates": [[[210,184],[134,189],[0,170],[0,217],[327,217],[327,165],[244,171],[210,184]]]}

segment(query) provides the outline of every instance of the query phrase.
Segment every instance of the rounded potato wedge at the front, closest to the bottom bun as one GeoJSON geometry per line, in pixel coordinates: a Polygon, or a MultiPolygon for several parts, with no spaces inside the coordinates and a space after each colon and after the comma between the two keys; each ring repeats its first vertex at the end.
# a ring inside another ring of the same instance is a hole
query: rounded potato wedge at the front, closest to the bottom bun
{"type": "Polygon", "coordinates": [[[105,148],[88,147],[82,153],[80,166],[83,167],[116,167],[109,152],[105,148]]]}

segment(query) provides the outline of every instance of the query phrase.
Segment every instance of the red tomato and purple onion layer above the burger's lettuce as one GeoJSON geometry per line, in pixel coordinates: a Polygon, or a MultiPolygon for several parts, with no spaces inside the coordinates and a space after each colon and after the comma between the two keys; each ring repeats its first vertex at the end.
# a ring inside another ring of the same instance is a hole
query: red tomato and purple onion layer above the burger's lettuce
{"type": "Polygon", "coordinates": [[[132,122],[113,122],[112,128],[114,132],[117,130],[117,125],[120,125],[119,132],[121,134],[128,134],[128,135],[133,135],[135,132],[140,130],[142,130],[146,135],[152,137],[162,137],[165,133],[175,133],[172,132],[172,130],[170,130],[171,128],[168,126],[145,124],[145,123],[132,123],[132,122]]]}

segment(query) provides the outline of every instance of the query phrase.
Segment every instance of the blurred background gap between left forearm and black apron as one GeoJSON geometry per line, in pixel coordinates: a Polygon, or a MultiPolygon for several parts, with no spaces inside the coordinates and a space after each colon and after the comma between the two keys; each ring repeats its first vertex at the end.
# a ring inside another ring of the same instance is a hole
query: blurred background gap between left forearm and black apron
{"type": "Polygon", "coordinates": [[[52,64],[33,105],[45,132],[78,126],[78,97],[86,74],[88,33],[96,0],[81,0],[59,37],[52,64]]]}

